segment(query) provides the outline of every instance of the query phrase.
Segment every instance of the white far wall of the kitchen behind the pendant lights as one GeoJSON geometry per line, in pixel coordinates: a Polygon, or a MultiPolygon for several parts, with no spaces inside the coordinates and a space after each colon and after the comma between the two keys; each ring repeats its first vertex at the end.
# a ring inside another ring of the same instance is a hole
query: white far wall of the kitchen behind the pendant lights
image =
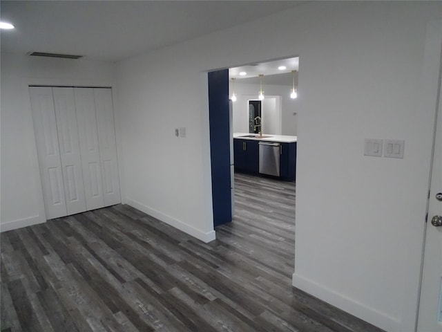
{"type": "MultiPolygon", "coordinates": [[[[235,83],[235,93],[237,100],[233,103],[233,132],[249,132],[249,109],[247,100],[258,98],[259,84],[235,83]],[[245,105],[245,108],[244,108],[245,105]]],[[[231,89],[231,86],[230,86],[231,89]]],[[[273,119],[277,122],[267,120],[264,124],[264,133],[273,133],[276,135],[296,136],[297,133],[297,115],[298,100],[290,98],[291,86],[265,84],[262,90],[267,98],[278,98],[280,113],[277,113],[273,119]],[[270,125],[270,127],[269,127],[270,125]],[[271,129],[271,132],[269,131],[271,129]]],[[[231,95],[232,91],[230,91],[231,95]]]]}

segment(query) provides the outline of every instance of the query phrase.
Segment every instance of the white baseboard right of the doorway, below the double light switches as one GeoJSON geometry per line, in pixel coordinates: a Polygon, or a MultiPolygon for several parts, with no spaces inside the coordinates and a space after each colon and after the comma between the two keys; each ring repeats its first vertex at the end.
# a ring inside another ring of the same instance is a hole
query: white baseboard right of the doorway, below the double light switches
{"type": "Polygon", "coordinates": [[[301,291],[305,291],[314,297],[318,297],[318,299],[322,299],[323,301],[332,304],[332,306],[336,306],[337,308],[361,318],[361,320],[365,320],[365,322],[369,322],[374,326],[378,326],[385,331],[401,331],[401,322],[396,318],[386,315],[375,308],[370,308],[369,306],[346,297],[343,294],[336,293],[336,291],[321,284],[317,284],[316,282],[312,282],[301,275],[294,273],[291,284],[294,287],[299,288],[301,291]]]}

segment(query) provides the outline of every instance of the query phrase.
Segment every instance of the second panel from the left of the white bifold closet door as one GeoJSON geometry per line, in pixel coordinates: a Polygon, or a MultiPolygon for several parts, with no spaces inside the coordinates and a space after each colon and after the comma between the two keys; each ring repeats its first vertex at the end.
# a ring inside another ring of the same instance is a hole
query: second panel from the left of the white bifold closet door
{"type": "Polygon", "coordinates": [[[68,214],[86,211],[74,90],[52,88],[68,214]]]}

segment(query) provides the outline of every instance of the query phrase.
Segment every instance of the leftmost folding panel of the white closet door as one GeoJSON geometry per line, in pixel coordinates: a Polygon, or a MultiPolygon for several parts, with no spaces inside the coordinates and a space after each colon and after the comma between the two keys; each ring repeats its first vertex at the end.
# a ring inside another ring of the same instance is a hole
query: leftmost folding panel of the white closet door
{"type": "Polygon", "coordinates": [[[52,88],[30,86],[29,93],[46,219],[66,216],[66,201],[64,199],[63,175],[61,172],[57,120],[55,120],[52,88]]]}

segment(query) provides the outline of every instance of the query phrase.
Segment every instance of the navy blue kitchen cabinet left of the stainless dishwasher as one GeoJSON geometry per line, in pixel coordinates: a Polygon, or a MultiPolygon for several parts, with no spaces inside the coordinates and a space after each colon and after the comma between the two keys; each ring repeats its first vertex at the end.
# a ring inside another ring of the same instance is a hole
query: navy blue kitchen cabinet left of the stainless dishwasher
{"type": "Polygon", "coordinates": [[[257,140],[233,140],[235,169],[241,172],[258,173],[259,151],[257,140]]]}

